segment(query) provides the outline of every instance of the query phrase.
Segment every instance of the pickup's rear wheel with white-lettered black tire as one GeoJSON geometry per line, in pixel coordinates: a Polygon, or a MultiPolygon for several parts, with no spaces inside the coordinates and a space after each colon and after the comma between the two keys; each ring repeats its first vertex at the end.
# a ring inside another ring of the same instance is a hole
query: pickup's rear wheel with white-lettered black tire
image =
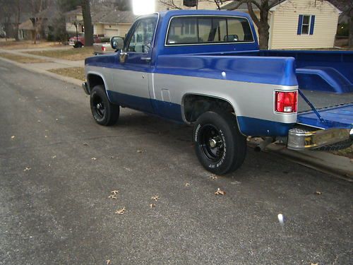
{"type": "Polygon", "coordinates": [[[195,151],[201,165],[217,175],[237,170],[246,155],[246,137],[241,135],[232,113],[209,111],[193,127],[195,151]]]}

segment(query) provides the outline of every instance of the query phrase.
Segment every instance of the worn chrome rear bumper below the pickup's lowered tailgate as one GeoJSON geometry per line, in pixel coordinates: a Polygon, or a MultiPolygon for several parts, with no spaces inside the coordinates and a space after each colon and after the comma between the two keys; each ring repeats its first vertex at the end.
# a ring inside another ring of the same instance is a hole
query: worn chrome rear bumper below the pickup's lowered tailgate
{"type": "Polygon", "coordinates": [[[299,127],[289,130],[287,147],[304,150],[328,146],[333,143],[352,139],[352,129],[314,129],[299,127]]]}

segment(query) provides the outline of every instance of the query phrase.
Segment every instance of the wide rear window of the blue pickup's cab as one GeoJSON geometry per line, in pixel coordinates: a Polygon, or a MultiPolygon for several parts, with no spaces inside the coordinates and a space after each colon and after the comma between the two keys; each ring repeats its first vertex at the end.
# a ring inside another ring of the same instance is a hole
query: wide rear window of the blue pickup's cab
{"type": "Polygon", "coordinates": [[[182,16],[169,23],[166,45],[253,42],[246,18],[182,16]]]}

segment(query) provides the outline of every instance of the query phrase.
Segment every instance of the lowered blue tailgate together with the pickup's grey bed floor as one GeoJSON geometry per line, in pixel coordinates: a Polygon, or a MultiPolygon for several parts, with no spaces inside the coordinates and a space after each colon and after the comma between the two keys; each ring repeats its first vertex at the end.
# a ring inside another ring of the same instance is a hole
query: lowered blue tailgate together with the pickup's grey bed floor
{"type": "Polygon", "coordinates": [[[353,128],[353,93],[324,93],[301,90],[322,119],[299,97],[298,123],[321,129],[353,128]],[[323,121],[324,120],[324,121],[323,121]]]}

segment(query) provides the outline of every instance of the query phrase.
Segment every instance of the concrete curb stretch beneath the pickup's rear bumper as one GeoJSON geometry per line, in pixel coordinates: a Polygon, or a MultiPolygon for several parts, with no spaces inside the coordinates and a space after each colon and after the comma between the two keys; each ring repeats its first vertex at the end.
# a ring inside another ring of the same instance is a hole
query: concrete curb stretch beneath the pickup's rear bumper
{"type": "MultiPolygon", "coordinates": [[[[249,145],[256,146],[260,142],[251,139],[249,145]]],[[[353,182],[353,160],[344,156],[323,151],[294,151],[280,143],[271,143],[265,152],[276,153],[300,165],[353,182]]]]}

